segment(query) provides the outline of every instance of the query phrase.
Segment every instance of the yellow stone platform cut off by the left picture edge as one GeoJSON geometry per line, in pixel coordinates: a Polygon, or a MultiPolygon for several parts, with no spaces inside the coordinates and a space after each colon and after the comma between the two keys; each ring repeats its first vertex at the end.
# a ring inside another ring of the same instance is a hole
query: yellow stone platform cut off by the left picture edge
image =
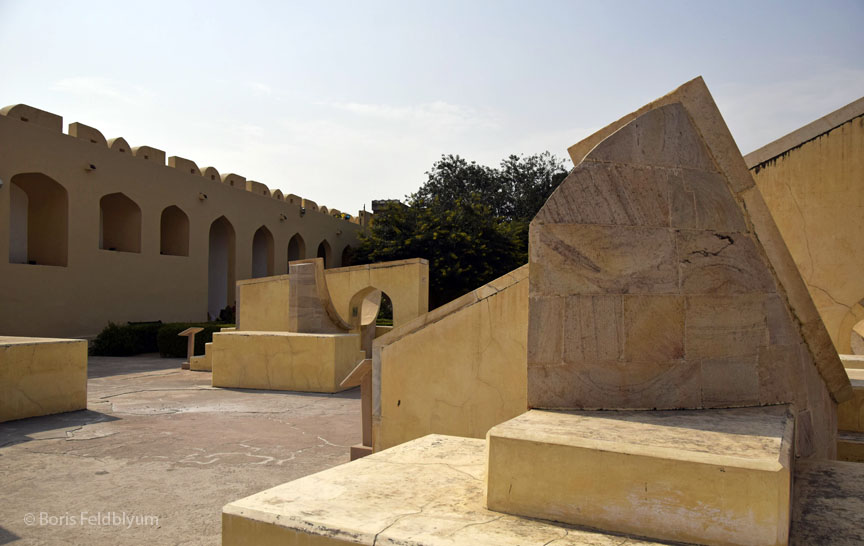
{"type": "Polygon", "coordinates": [[[86,341],[0,336],[0,422],[86,407],[86,341]]]}

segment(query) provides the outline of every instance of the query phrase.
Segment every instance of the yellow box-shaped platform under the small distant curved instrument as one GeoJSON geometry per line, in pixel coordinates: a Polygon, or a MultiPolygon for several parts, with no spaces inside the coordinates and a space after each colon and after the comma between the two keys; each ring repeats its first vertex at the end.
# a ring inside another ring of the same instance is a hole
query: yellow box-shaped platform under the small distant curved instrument
{"type": "Polygon", "coordinates": [[[208,347],[213,386],[334,393],[365,358],[359,334],[217,332],[208,347]]]}

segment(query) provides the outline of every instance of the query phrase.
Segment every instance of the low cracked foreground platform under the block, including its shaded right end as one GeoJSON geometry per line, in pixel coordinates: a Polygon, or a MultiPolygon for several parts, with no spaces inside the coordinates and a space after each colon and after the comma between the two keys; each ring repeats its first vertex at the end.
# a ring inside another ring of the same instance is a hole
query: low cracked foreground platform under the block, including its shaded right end
{"type": "MultiPolygon", "coordinates": [[[[430,435],[232,502],[224,546],[675,544],[484,508],[483,440],[430,435]]],[[[799,461],[789,544],[864,543],[864,465],[799,461]]]]}

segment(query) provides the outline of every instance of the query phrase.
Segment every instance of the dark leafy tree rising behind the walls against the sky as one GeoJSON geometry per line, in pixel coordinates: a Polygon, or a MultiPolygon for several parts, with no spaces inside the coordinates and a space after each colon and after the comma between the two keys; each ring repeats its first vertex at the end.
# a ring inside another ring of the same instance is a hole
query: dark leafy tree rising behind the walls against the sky
{"type": "Polygon", "coordinates": [[[511,155],[499,168],[442,156],[426,183],[375,214],[356,263],[429,260],[429,305],[443,305],[523,265],[528,223],[567,176],[549,152],[511,155]]]}

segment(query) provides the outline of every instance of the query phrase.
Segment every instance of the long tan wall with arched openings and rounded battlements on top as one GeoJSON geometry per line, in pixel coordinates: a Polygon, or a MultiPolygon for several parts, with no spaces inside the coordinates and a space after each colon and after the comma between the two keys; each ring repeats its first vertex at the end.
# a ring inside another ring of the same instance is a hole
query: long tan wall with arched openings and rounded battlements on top
{"type": "MultiPolygon", "coordinates": [[[[338,267],[360,220],[18,105],[0,115],[0,333],[203,321],[290,260],[338,267]],[[282,197],[280,199],[279,197],[282,197]]],[[[367,218],[365,215],[361,218],[367,218]]]]}

